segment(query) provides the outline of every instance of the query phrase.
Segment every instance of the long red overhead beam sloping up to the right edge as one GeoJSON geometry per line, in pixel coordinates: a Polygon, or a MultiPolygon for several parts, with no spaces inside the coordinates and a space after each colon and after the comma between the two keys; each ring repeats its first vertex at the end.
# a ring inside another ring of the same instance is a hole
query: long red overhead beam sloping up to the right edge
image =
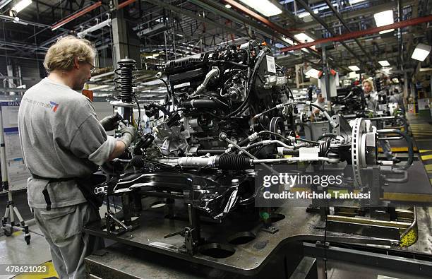
{"type": "Polygon", "coordinates": [[[380,31],[384,31],[384,30],[403,28],[403,27],[407,27],[407,26],[411,26],[411,25],[428,23],[430,21],[432,21],[432,16],[422,16],[421,18],[412,18],[409,20],[403,20],[403,21],[400,21],[398,23],[392,23],[389,25],[384,25],[384,26],[380,26],[380,27],[376,27],[376,28],[369,28],[366,30],[355,31],[355,32],[347,33],[347,34],[336,36],[336,37],[328,37],[328,38],[316,40],[313,42],[306,42],[304,44],[296,44],[292,47],[284,47],[284,48],[280,49],[280,52],[289,52],[291,50],[302,49],[304,47],[311,47],[313,45],[321,44],[323,42],[342,42],[345,40],[353,39],[355,37],[361,37],[364,35],[375,34],[375,33],[378,33],[380,31]]]}

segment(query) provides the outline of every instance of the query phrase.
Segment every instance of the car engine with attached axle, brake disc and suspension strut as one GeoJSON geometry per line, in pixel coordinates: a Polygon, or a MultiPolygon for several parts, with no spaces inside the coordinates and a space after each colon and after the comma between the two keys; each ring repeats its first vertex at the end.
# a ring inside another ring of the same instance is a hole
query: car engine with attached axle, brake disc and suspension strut
{"type": "MultiPolygon", "coordinates": [[[[138,106],[133,102],[134,68],[131,59],[119,61],[121,95],[113,102],[130,124],[135,123],[132,109],[138,106]]],[[[144,107],[151,132],[139,129],[138,121],[135,143],[124,158],[105,166],[107,182],[95,189],[101,196],[121,196],[124,203],[123,225],[108,208],[108,232],[133,227],[133,212],[140,211],[143,196],[163,198],[164,203],[182,200],[195,228],[197,218],[191,216],[222,220],[235,210],[256,210],[253,205],[262,191],[255,184],[258,166],[277,174],[272,165],[312,166],[319,172],[325,165],[344,163],[344,184],[369,186],[366,169],[380,164],[378,132],[386,131],[378,131],[367,119],[348,122],[309,101],[295,100],[269,47],[254,41],[217,47],[169,61],[165,68],[164,104],[144,107]],[[332,133],[319,141],[297,136],[294,112],[299,104],[320,109],[332,133]]],[[[411,162],[387,171],[401,174],[411,162]]]]}

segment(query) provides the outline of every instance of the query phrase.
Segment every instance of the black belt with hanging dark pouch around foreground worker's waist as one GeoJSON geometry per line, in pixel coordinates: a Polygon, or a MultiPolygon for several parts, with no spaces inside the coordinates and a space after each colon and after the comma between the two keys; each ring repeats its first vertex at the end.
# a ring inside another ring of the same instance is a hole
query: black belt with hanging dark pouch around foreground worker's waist
{"type": "Polygon", "coordinates": [[[94,191],[94,186],[97,184],[100,184],[99,179],[97,179],[97,176],[90,175],[90,177],[66,177],[66,178],[50,178],[50,177],[41,177],[37,174],[32,174],[32,177],[35,179],[42,179],[47,180],[47,185],[44,186],[44,189],[42,190],[42,194],[44,195],[45,202],[47,203],[47,210],[51,210],[52,202],[51,198],[49,197],[48,193],[48,185],[52,182],[67,182],[74,180],[76,184],[78,185],[78,189],[80,189],[81,193],[83,193],[83,196],[85,199],[90,203],[91,206],[93,206],[96,209],[99,209],[100,206],[102,206],[103,198],[101,196],[97,196],[94,191]]]}

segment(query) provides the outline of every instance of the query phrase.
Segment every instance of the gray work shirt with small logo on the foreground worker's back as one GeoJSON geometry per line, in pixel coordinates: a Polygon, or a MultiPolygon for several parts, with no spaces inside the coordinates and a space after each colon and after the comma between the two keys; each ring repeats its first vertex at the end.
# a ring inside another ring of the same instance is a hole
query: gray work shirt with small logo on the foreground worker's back
{"type": "MultiPolygon", "coordinates": [[[[18,129],[25,165],[40,177],[87,177],[108,160],[116,144],[97,120],[88,97],[49,78],[25,92],[18,129]]],[[[47,183],[28,179],[31,208],[46,208],[42,191],[47,183]]],[[[51,182],[47,189],[52,208],[86,201],[73,179],[51,182]]]]}

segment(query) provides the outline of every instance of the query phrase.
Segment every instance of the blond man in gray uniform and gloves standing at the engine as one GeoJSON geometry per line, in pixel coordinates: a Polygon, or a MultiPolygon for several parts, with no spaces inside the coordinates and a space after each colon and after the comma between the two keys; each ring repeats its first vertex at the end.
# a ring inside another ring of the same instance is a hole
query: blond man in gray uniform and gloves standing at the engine
{"type": "Polygon", "coordinates": [[[61,279],[85,278],[85,256],[103,247],[102,239],[83,232],[100,215],[77,180],[123,154],[136,133],[123,125],[121,138],[107,136],[116,116],[99,121],[92,102],[80,93],[94,59],[88,40],[67,36],[57,41],[44,59],[49,76],[25,92],[18,112],[24,161],[32,174],[28,204],[61,279]]]}

